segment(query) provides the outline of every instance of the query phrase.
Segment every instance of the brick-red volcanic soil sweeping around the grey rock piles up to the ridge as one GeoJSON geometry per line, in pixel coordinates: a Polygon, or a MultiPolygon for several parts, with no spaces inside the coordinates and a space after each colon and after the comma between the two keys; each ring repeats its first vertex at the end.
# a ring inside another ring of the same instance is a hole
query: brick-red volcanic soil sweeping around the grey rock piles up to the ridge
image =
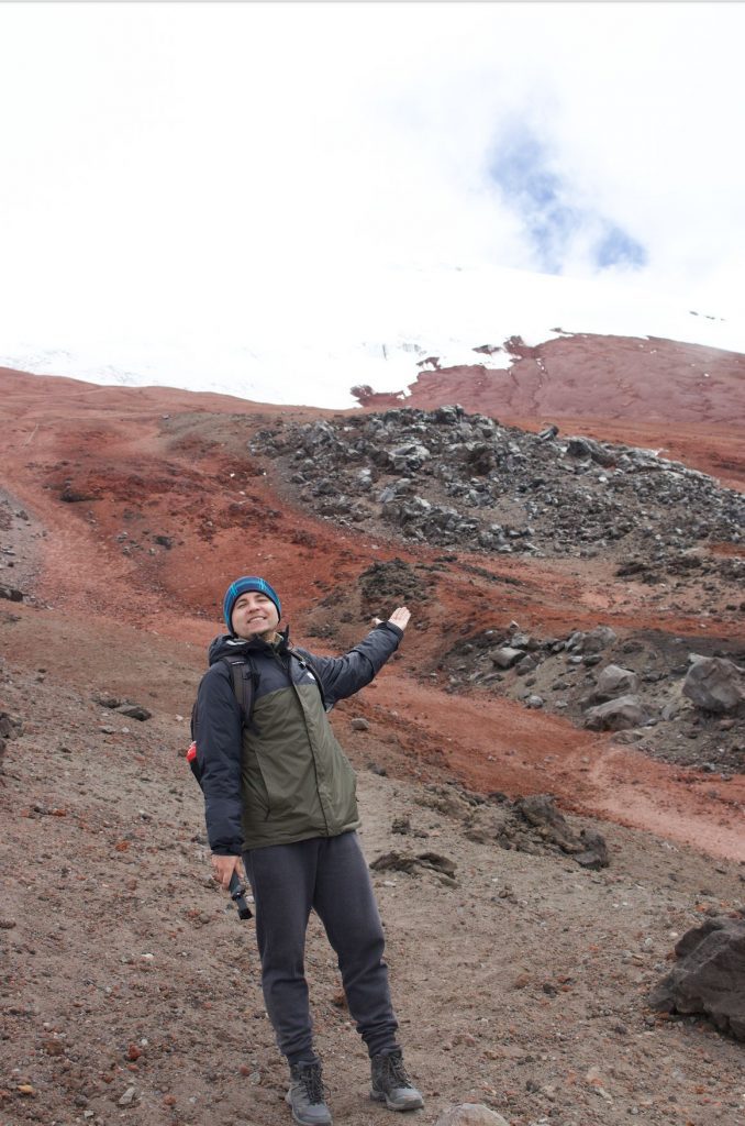
{"type": "MultiPolygon", "coordinates": [[[[648,374],[641,379],[640,342],[608,339],[600,360],[596,341],[594,349],[590,343],[591,338],[575,337],[535,349],[548,373],[540,378],[532,356],[520,361],[518,373],[484,372],[481,384],[473,378],[478,368],[425,375],[406,404],[460,401],[533,427],[554,419],[563,423],[568,413],[575,431],[664,445],[702,468],[719,459],[728,466],[729,481],[745,480],[734,426],[745,417],[743,357],[645,341],[648,374]],[[711,374],[698,397],[692,388],[701,373],[681,374],[693,363],[691,356],[699,366],[706,356],[711,374]],[[662,386],[653,392],[658,376],[662,386]],[[605,412],[607,422],[601,421],[605,412]]],[[[30,605],[19,608],[24,624],[16,631],[15,652],[32,667],[52,607],[55,619],[62,615],[82,640],[71,647],[47,634],[45,665],[72,682],[89,683],[98,676],[104,683],[124,685],[135,697],[144,687],[132,656],[135,635],[118,633],[105,659],[96,638],[113,628],[149,631],[174,645],[194,646],[194,680],[172,701],[183,713],[203,668],[203,646],[221,629],[224,587],[236,573],[268,574],[281,592],[294,636],[312,637],[321,625],[322,634],[333,638],[325,647],[340,649],[365,632],[366,622],[345,607],[372,560],[421,562],[437,554],[368,540],[284,499],[280,484],[249,453],[250,438],[279,413],[306,419],[322,411],[288,412],[227,396],[99,387],[2,369],[0,381],[0,485],[27,510],[35,529],[23,558],[5,572],[30,596],[30,605]]],[[[568,565],[478,556],[482,568],[504,580],[496,596],[495,584],[474,575],[468,562],[463,554],[461,569],[456,564],[455,577],[451,572],[433,600],[416,608],[401,659],[360,697],[358,711],[375,713],[382,734],[376,753],[384,765],[511,796],[549,790],[584,814],[745,858],[745,777],[736,776],[724,797],[712,798],[710,778],[654,762],[608,735],[578,731],[559,716],[538,715],[510,700],[445,694],[422,680],[459,636],[511,619],[544,634],[599,623],[619,631],[636,626],[691,634],[698,632],[695,619],[656,608],[649,591],[634,584],[614,602],[600,560],[568,565]]],[[[395,600],[396,592],[391,597],[395,600]]],[[[731,636],[731,622],[718,622],[716,607],[710,615],[708,636],[718,629],[731,636]]]]}

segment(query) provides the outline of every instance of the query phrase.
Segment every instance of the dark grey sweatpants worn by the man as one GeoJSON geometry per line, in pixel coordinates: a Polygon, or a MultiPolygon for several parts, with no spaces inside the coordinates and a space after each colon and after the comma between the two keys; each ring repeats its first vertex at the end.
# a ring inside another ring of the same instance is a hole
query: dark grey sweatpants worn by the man
{"type": "Polygon", "coordinates": [[[313,909],[336,953],[349,1011],[370,1055],[396,1046],[384,936],[357,833],[270,844],[243,855],[257,909],[261,985],[277,1044],[290,1064],[314,1060],[305,980],[313,909]]]}

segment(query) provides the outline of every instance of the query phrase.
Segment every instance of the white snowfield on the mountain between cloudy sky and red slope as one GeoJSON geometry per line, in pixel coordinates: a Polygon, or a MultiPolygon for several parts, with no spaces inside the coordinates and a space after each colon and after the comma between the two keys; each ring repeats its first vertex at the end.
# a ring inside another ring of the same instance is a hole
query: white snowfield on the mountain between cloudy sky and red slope
{"type": "MultiPolygon", "coordinates": [[[[198,310],[195,311],[198,324],[198,310]]],[[[562,333],[661,337],[745,352],[745,322],[628,279],[586,280],[509,269],[396,269],[306,285],[286,300],[252,306],[245,325],[188,339],[11,341],[0,336],[0,365],[100,384],[172,386],[259,402],[344,408],[352,386],[404,392],[428,356],[441,366],[484,363],[475,348],[500,349],[520,336],[538,345],[562,333]]],[[[502,350],[490,367],[509,367],[502,350]]]]}

